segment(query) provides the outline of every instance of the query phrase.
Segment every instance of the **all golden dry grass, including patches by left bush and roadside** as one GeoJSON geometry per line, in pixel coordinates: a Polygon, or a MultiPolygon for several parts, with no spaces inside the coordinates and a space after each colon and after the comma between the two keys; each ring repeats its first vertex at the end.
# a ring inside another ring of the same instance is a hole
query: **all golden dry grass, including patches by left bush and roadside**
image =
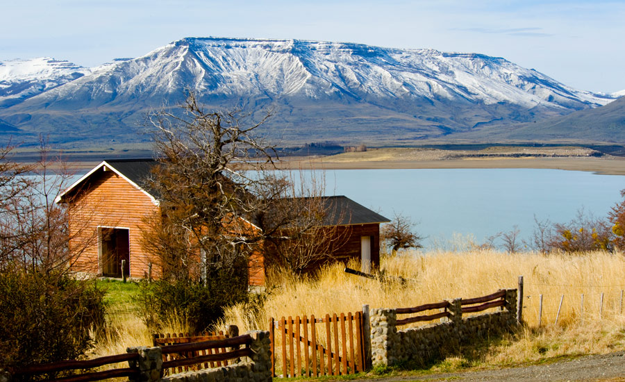
{"type": "MultiPolygon", "coordinates": [[[[353,264],[352,267],[358,267],[353,264]]],[[[269,277],[267,301],[257,313],[244,304],[226,311],[221,323],[235,324],[240,333],[267,329],[270,317],[347,313],[369,304],[371,308],[417,306],[442,299],[479,297],[500,288],[516,288],[524,276],[524,321],[515,335],[492,342],[481,351],[465,351],[444,361],[458,365],[515,365],[558,356],[601,354],[622,349],[625,319],[621,295],[625,289],[625,256],[590,254],[506,254],[469,250],[406,251],[383,256],[386,276],[401,276],[406,283],[363,279],[345,274],[342,265],[322,269],[314,278],[269,277]],[[603,312],[601,313],[601,292],[603,312]],[[538,328],[538,301],[543,295],[542,325],[538,328]],[[583,317],[581,294],[584,294],[583,317]],[[562,300],[558,324],[556,313],[562,300]],[[466,358],[466,359],[465,359],[466,358]]],[[[149,331],[128,309],[111,319],[110,334],[99,341],[94,356],[124,353],[126,347],[149,345],[149,331]]],[[[185,331],[170,323],[165,331],[185,331]]]]}

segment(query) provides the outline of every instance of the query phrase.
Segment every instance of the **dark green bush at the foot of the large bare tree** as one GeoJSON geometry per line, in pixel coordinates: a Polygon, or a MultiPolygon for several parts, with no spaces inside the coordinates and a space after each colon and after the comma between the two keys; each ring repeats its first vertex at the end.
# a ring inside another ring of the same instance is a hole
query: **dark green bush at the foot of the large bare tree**
{"type": "Polygon", "coordinates": [[[247,274],[223,269],[208,272],[206,282],[195,279],[141,283],[138,303],[147,326],[158,331],[164,323],[182,322],[193,332],[213,326],[224,309],[246,301],[247,274]]]}

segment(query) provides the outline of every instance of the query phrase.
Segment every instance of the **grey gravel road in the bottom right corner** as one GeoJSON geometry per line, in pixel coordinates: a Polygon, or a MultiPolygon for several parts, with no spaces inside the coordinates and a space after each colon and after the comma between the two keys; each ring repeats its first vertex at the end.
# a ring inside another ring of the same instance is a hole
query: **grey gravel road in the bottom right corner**
{"type": "Polygon", "coordinates": [[[625,351],[599,356],[585,356],[548,365],[424,376],[383,377],[375,381],[625,381],[625,351]]]}

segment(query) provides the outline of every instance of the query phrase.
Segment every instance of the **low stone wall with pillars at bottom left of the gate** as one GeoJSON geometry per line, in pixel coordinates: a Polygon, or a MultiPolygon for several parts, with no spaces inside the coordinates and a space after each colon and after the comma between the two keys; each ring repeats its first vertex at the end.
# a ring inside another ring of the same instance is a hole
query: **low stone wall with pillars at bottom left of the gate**
{"type": "Polygon", "coordinates": [[[243,357],[239,363],[213,369],[172,374],[161,378],[163,358],[160,347],[133,347],[128,352],[139,353],[139,360],[131,367],[139,367],[140,374],[131,382],[271,382],[272,360],[268,331],[251,331],[253,356],[243,357]]]}

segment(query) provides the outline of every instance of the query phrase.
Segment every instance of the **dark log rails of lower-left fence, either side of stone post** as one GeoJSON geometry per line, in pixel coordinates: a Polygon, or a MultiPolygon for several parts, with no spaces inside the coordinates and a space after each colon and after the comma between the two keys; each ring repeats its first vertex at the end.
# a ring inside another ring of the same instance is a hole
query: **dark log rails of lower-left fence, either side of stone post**
{"type": "MultiPolygon", "coordinates": [[[[167,338],[165,338],[167,340],[167,338]]],[[[180,339],[180,337],[178,337],[180,339]]],[[[197,367],[201,369],[201,366],[214,363],[224,363],[228,360],[252,356],[252,351],[249,349],[249,344],[253,339],[250,335],[239,335],[234,338],[224,338],[221,340],[206,340],[201,342],[185,342],[182,340],[177,344],[169,344],[160,347],[164,356],[167,356],[167,360],[163,362],[163,370],[175,369],[180,370],[181,367],[197,367]],[[238,347],[245,345],[244,348],[238,349],[238,347]],[[219,351],[218,349],[230,349],[226,351],[219,351]],[[213,351],[215,352],[213,353],[213,351]],[[185,357],[169,357],[172,354],[180,355],[185,354],[185,357]]],[[[165,358],[165,357],[164,357],[165,358]]],[[[48,379],[43,379],[50,382],[92,382],[101,381],[103,379],[130,377],[131,379],[138,380],[140,370],[138,367],[126,367],[123,369],[109,369],[97,372],[88,372],[86,369],[93,369],[94,367],[102,367],[106,365],[112,365],[121,362],[138,361],[138,353],[117,354],[115,356],[106,356],[101,358],[95,358],[92,360],[66,360],[56,363],[48,363],[45,365],[31,365],[22,369],[11,370],[11,374],[15,380],[27,379],[31,376],[52,376],[48,379]],[[59,373],[67,373],[72,370],[81,370],[78,374],[72,374],[69,376],[63,376],[56,378],[59,373]]]]}

